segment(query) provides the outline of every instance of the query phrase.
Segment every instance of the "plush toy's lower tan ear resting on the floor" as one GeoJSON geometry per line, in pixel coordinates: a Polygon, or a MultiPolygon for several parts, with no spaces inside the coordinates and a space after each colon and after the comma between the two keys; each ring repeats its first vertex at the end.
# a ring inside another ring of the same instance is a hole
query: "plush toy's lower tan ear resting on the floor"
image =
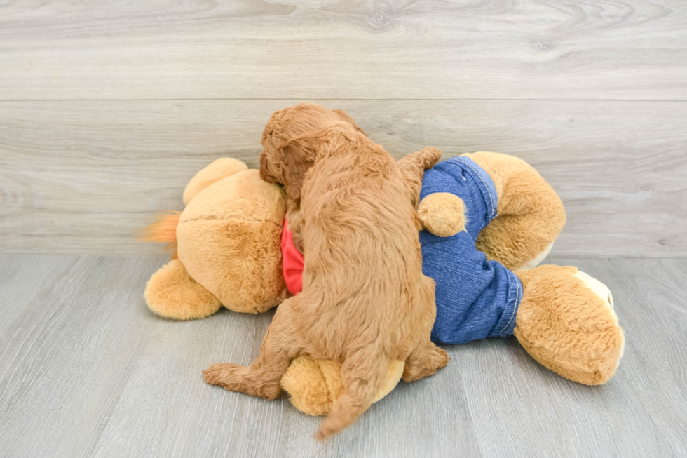
{"type": "Polygon", "coordinates": [[[189,276],[178,259],[172,259],[151,276],[144,297],[151,311],[175,320],[205,318],[222,305],[189,276]]]}

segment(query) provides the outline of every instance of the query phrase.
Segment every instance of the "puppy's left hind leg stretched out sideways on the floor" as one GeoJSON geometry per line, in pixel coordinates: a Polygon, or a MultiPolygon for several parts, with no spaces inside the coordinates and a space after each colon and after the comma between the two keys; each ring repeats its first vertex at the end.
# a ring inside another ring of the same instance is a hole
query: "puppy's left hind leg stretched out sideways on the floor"
{"type": "Polygon", "coordinates": [[[203,371],[205,382],[268,400],[279,396],[280,380],[300,349],[293,326],[294,300],[296,297],[291,297],[279,306],[262,341],[259,356],[250,366],[213,364],[203,371]]]}

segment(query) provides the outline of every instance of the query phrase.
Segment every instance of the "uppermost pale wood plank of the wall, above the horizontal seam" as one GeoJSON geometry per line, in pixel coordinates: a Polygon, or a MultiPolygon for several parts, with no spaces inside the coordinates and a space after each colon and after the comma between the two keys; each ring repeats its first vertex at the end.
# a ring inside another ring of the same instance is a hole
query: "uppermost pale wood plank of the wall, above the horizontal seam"
{"type": "Polygon", "coordinates": [[[1,100],[687,100],[682,0],[0,8],[1,100]]]}

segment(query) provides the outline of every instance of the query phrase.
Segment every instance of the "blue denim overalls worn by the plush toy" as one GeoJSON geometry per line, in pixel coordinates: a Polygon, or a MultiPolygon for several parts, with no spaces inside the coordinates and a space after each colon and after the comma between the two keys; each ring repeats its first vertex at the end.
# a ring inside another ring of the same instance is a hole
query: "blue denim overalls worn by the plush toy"
{"type": "Polygon", "coordinates": [[[432,339],[463,344],[485,337],[509,337],[522,299],[519,278],[475,248],[477,234],[496,217],[496,187],[468,157],[426,170],[420,198],[449,192],[465,203],[465,231],[437,237],[421,231],[422,267],[437,283],[437,321],[432,339]]]}

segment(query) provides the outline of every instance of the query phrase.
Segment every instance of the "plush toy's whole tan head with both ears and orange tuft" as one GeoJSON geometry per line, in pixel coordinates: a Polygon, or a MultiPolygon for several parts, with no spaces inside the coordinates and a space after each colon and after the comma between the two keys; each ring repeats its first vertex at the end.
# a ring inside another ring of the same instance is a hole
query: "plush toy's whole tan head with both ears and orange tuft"
{"type": "Polygon", "coordinates": [[[285,200],[281,187],[236,159],[200,170],[184,191],[184,211],[148,228],[148,240],[177,245],[147,284],[149,308],[193,319],[221,305],[257,314],[280,304],[289,295],[280,245],[285,200]]]}

